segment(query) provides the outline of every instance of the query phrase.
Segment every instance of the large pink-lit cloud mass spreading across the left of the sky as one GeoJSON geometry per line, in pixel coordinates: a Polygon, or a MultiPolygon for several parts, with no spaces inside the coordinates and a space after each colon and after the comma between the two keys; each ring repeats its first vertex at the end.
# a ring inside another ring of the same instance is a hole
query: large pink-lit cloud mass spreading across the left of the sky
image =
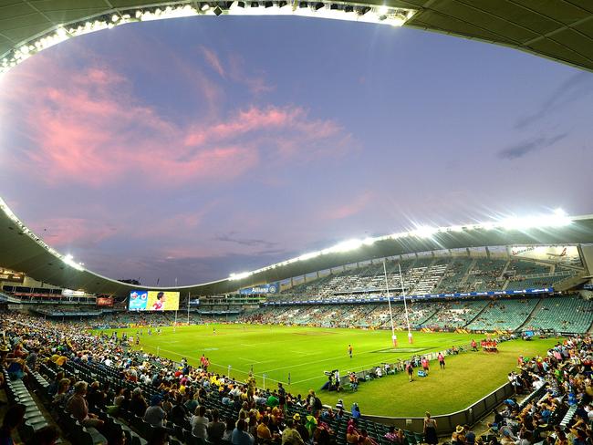
{"type": "Polygon", "coordinates": [[[31,142],[12,162],[22,171],[35,166],[49,183],[232,181],[264,158],[302,161],[350,145],[336,122],[311,119],[299,107],[251,106],[182,122],[140,102],[130,81],[109,67],[94,64],[72,74],[44,55],[32,62],[39,65],[12,78],[8,93],[31,142]]]}

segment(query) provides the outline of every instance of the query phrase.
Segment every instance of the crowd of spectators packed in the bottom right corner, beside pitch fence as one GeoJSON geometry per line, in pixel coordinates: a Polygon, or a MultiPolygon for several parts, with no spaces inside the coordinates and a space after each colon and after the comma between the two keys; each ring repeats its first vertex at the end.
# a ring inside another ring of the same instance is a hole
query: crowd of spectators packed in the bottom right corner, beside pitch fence
{"type": "MultiPolygon", "coordinates": [[[[506,399],[504,409],[494,410],[490,442],[593,444],[591,337],[567,339],[543,357],[518,357],[517,365],[519,372],[508,376],[516,397],[506,399]]],[[[453,432],[452,443],[468,443],[467,429],[453,432]]]]}

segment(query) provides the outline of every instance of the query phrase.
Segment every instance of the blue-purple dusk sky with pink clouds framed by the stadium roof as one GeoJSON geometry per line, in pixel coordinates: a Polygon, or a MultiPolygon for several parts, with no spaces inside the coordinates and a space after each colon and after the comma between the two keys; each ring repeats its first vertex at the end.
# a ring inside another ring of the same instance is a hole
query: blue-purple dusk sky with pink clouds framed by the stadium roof
{"type": "Polygon", "coordinates": [[[349,238],[593,213],[593,74],[297,17],[119,26],[0,83],[0,195],[111,278],[190,285],[349,238]]]}

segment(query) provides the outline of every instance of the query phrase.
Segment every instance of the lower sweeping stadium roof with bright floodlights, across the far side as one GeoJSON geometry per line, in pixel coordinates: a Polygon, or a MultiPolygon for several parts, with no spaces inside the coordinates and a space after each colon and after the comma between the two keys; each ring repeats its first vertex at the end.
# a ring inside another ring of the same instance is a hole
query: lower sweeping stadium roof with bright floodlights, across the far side
{"type": "MultiPolygon", "coordinates": [[[[142,286],[179,290],[183,295],[220,295],[251,285],[284,280],[373,258],[494,245],[593,243],[593,215],[567,217],[561,213],[536,218],[514,218],[495,223],[442,228],[417,227],[411,232],[349,240],[323,251],[304,254],[256,271],[223,280],[179,287],[142,286]]],[[[91,294],[125,296],[138,286],[95,274],[71,256],[59,254],[26,228],[0,199],[0,265],[47,284],[91,294]]]]}

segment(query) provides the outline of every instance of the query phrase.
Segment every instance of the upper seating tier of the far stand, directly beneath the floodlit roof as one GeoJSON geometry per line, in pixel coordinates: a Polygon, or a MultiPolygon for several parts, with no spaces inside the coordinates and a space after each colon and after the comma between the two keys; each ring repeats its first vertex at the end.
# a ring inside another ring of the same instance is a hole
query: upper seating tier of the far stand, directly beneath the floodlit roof
{"type": "MultiPolygon", "coordinates": [[[[555,283],[577,274],[577,269],[559,268],[554,264],[534,261],[486,257],[419,257],[387,263],[391,295],[447,294],[454,292],[484,292],[553,287],[555,283]],[[557,269],[557,270],[556,270],[557,269]]],[[[284,290],[281,301],[304,301],[312,298],[333,299],[357,296],[361,299],[385,294],[385,274],[382,262],[360,264],[325,271],[319,278],[307,278],[284,290]],[[325,274],[325,275],[324,275],[325,274]]]]}

